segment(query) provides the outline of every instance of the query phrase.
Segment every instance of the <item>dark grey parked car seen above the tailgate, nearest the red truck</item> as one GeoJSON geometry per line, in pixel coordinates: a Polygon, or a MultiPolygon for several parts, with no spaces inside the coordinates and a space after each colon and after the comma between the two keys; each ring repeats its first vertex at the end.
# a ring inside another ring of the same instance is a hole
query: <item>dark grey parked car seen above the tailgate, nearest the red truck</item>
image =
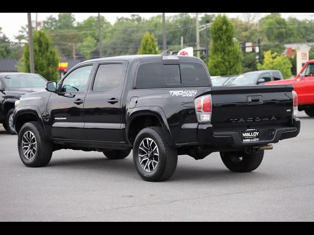
{"type": "Polygon", "coordinates": [[[284,76],[279,70],[252,71],[239,75],[230,85],[234,86],[264,85],[265,82],[277,81],[282,79],[284,79],[284,76]]]}

